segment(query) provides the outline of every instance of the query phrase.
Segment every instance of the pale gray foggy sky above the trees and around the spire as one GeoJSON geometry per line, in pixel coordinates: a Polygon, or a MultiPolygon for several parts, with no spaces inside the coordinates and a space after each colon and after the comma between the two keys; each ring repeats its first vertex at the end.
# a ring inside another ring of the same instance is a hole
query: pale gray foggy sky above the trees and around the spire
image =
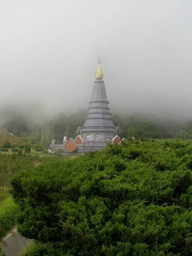
{"type": "Polygon", "coordinates": [[[0,104],[192,117],[192,0],[0,0],[0,104]]]}

